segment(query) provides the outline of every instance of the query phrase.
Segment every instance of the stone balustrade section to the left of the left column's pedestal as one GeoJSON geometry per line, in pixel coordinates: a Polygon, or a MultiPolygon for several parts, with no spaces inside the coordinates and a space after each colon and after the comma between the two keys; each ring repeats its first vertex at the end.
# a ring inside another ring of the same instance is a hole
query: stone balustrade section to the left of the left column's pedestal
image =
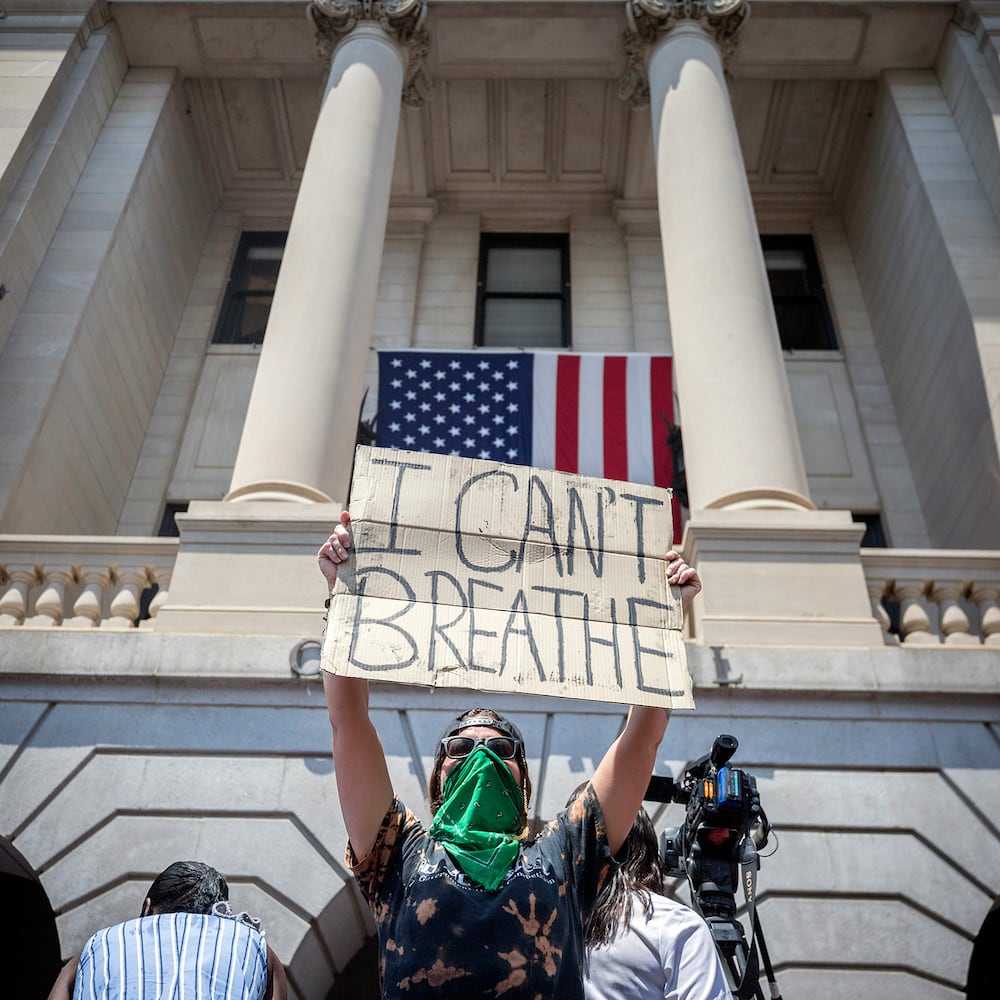
{"type": "Polygon", "coordinates": [[[0,629],[150,629],[176,538],[0,535],[0,629]]]}

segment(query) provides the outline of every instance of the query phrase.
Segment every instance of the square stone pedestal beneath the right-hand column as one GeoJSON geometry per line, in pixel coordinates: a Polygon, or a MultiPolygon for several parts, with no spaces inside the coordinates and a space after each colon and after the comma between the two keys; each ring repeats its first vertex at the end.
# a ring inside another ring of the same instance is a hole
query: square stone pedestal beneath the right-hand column
{"type": "Polygon", "coordinates": [[[696,510],[683,550],[704,592],[689,609],[706,646],[882,646],[848,511],[696,510]]]}

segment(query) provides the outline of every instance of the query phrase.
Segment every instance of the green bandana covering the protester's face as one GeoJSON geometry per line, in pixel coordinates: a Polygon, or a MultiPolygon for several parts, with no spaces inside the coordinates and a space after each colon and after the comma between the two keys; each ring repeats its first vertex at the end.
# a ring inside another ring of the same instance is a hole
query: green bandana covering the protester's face
{"type": "Polygon", "coordinates": [[[449,772],[428,832],[469,878],[493,892],[517,857],[521,805],[510,768],[478,746],[449,772]]]}

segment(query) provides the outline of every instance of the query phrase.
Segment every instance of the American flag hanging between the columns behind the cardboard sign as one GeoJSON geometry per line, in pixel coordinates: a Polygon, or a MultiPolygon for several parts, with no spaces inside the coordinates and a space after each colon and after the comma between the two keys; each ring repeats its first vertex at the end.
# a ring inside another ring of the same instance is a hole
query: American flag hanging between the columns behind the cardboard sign
{"type": "Polygon", "coordinates": [[[378,444],[669,486],[671,358],[380,351],[378,444]]]}

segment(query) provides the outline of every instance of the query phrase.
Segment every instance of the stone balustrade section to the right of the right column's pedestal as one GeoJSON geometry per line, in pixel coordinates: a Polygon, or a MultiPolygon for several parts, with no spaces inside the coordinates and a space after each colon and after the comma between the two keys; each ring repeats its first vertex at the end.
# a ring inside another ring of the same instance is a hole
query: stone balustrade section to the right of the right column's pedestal
{"type": "Polygon", "coordinates": [[[1000,646],[1000,552],[862,549],[886,641],[1000,646]]]}

